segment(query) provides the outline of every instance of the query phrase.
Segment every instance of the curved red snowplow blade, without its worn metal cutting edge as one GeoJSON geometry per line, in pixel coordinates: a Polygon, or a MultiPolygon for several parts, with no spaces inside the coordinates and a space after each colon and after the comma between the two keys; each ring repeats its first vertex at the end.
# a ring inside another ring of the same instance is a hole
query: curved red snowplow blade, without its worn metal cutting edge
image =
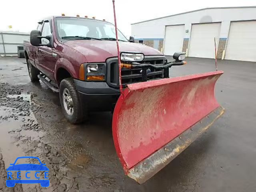
{"type": "Polygon", "coordinates": [[[222,71],[130,84],[114,109],[116,151],[127,171],[218,108],[222,71]]]}

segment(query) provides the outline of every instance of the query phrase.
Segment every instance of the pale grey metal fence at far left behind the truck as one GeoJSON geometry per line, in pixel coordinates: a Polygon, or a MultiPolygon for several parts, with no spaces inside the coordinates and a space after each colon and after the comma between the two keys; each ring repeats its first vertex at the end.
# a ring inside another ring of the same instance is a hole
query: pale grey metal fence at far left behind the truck
{"type": "Polygon", "coordinates": [[[29,40],[29,33],[0,31],[0,56],[17,56],[24,40],[29,40]]]}

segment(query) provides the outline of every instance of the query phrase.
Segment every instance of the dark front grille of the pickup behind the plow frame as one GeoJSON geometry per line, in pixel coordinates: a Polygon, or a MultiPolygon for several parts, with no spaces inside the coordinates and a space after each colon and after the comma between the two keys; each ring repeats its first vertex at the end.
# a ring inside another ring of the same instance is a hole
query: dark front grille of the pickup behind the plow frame
{"type": "MultiPolygon", "coordinates": [[[[165,58],[164,56],[145,56],[143,62],[147,62],[153,65],[164,64],[165,58]]],[[[119,86],[118,80],[118,60],[117,58],[110,58],[107,60],[107,68],[108,68],[108,77],[107,82],[112,87],[119,86]]],[[[149,67],[150,73],[147,74],[147,80],[154,80],[164,77],[163,69],[155,69],[153,67],[149,67]]],[[[121,78],[122,85],[126,86],[127,84],[142,82],[142,74],[141,68],[138,69],[121,69],[121,78]]]]}

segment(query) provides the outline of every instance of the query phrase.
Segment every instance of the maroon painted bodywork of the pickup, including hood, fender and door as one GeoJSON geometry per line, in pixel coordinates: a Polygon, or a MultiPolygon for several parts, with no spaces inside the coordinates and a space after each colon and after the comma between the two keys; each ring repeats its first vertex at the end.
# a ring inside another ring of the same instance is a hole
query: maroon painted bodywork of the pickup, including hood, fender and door
{"type": "MultiPolygon", "coordinates": [[[[107,40],[58,40],[56,36],[56,17],[52,17],[53,47],[32,46],[30,41],[24,43],[24,50],[29,56],[32,65],[48,78],[57,81],[58,70],[64,68],[73,78],[79,78],[79,67],[86,62],[106,62],[106,59],[117,57],[116,41],[107,40]],[[39,49],[43,50],[39,54],[39,49]],[[57,54],[57,58],[52,57],[52,53],[57,54]]],[[[81,18],[82,19],[82,18],[81,18]]],[[[84,18],[85,22],[88,20],[84,18]]],[[[42,31],[42,29],[41,29],[42,31]]],[[[121,52],[140,52],[144,55],[163,55],[160,51],[149,46],[119,42],[121,52]]]]}

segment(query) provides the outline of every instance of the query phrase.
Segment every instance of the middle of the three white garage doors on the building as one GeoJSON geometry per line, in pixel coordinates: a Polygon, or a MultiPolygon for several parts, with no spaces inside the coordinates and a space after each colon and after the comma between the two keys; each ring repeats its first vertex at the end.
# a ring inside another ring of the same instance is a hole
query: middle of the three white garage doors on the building
{"type": "Polygon", "coordinates": [[[216,47],[218,47],[220,25],[221,23],[193,24],[188,56],[215,58],[214,37],[216,37],[216,47]]]}

